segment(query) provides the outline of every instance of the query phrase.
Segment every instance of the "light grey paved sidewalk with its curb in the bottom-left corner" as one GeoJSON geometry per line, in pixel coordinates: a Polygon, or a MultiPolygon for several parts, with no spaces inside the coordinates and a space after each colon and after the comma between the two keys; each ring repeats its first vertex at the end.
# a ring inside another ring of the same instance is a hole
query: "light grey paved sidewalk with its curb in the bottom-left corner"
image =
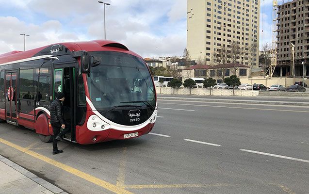
{"type": "Polygon", "coordinates": [[[0,194],[67,194],[0,155],[0,194]]]}

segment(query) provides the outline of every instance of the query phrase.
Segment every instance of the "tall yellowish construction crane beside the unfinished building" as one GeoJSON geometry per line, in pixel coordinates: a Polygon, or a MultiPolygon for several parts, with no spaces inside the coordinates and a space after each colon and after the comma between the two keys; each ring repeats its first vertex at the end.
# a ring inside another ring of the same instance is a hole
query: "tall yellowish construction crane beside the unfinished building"
{"type": "Polygon", "coordinates": [[[271,64],[269,66],[269,78],[273,77],[276,65],[277,65],[277,0],[273,0],[273,25],[272,25],[272,33],[273,33],[273,39],[272,39],[272,58],[271,58],[271,64]]]}

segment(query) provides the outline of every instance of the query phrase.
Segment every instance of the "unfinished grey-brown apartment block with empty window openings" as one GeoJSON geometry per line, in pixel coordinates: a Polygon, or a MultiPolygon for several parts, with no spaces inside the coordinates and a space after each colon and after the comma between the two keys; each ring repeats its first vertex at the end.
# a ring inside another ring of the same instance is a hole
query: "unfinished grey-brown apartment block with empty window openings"
{"type": "Polygon", "coordinates": [[[274,76],[309,76],[309,0],[277,6],[277,67],[274,76]],[[294,45],[294,47],[293,47],[294,45]],[[302,65],[305,62],[305,65],[302,65]]]}

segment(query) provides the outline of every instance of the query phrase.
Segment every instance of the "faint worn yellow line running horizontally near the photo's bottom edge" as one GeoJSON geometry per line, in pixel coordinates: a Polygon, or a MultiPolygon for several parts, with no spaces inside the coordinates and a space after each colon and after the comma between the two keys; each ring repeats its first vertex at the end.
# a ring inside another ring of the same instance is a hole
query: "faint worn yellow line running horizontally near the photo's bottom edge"
{"type": "Polygon", "coordinates": [[[171,185],[124,185],[123,188],[129,189],[163,189],[163,188],[188,188],[188,187],[227,187],[226,183],[214,184],[171,184],[171,185]]]}

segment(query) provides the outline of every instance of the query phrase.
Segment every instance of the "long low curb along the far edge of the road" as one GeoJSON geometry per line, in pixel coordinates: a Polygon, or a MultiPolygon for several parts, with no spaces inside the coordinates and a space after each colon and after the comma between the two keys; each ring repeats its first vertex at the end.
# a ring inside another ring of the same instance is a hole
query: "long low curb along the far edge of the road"
{"type": "Polygon", "coordinates": [[[308,106],[309,102],[284,102],[266,100],[237,100],[237,99],[216,99],[216,98],[193,98],[193,97],[157,97],[159,100],[191,100],[202,102],[226,102],[239,104],[269,104],[269,105],[288,105],[288,106],[308,106]]]}

